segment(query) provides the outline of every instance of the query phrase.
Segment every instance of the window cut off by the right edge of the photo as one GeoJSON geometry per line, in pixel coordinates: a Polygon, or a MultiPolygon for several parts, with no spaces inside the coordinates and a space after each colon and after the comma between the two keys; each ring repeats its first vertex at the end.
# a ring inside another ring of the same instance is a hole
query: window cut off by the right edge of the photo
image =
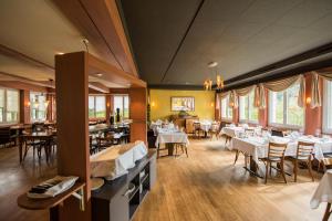
{"type": "Polygon", "coordinates": [[[323,133],[332,133],[332,82],[324,81],[323,94],[323,133]]]}

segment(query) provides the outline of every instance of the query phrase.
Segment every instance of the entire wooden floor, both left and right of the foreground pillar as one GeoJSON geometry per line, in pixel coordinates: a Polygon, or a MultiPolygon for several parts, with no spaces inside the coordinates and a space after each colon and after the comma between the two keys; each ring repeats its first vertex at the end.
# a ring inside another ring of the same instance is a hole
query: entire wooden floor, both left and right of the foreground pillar
{"type": "MultiPolygon", "coordinates": [[[[309,207],[318,186],[307,170],[300,171],[298,183],[287,177],[262,179],[249,176],[235,152],[225,150],[221,141],[191,140],[189,158],[158,159],[157,183],[135,214],[135,221],[204,221],[204,220],[321,220],[325,204],[309,207]]],[[[53,177],[55,160],[33,160],[28,156],[19,165],[18,149],[0,149],[0,220],[46,221],[46,211],[28,211],[17,207],[18,194],[32,185],[53,177]]],[[[290,169],[290,168],[289,168],[290,169]]],[[[321,175],[314,173],[317,180],[321,175]]]]}

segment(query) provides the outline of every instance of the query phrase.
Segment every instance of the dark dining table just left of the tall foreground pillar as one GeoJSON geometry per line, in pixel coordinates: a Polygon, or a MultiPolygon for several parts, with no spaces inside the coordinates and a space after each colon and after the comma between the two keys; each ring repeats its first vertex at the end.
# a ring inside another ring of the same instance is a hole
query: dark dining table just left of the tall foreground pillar
{"type": "Polygon", "coordinates": [[[33,131],[30,134],[23,134],[20,136],[20,144],[19,144],[19,159],[20,164],[23,161],[24,157],[27,156],[27,146],[23,156],[23,146],[27,145],[27,140],[42,140],[44,141],[45,148],[45,156],[46,161],[50,159],[51,155],[51,141],[56,136],[56,130],[45,130],[45,131],[33,131]]]}

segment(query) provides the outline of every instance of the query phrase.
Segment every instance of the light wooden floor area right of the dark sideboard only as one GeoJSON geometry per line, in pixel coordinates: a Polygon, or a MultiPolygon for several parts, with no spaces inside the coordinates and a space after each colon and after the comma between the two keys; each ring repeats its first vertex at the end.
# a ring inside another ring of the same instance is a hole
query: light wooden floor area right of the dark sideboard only
{"type": "Polygon", "coordinates": [[[307,170],[298,183],[276,177],[264,185],[245,171],[242,158],[234,166],[234,157],[219,141],[191,140],[189,158],[158,159],[157,185],[134,220],[321,220],[325,204],[310,209],[318,181],[307,170]]]}

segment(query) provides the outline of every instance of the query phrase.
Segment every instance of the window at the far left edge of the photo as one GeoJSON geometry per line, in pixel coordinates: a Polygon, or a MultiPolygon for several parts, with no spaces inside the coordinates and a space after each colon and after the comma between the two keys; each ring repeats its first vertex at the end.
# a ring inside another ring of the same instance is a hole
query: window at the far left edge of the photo
{"type": "Polygon", "coordinates": [[[19,122],[19,91],[0,88],[0,123],[19,122]]]}

